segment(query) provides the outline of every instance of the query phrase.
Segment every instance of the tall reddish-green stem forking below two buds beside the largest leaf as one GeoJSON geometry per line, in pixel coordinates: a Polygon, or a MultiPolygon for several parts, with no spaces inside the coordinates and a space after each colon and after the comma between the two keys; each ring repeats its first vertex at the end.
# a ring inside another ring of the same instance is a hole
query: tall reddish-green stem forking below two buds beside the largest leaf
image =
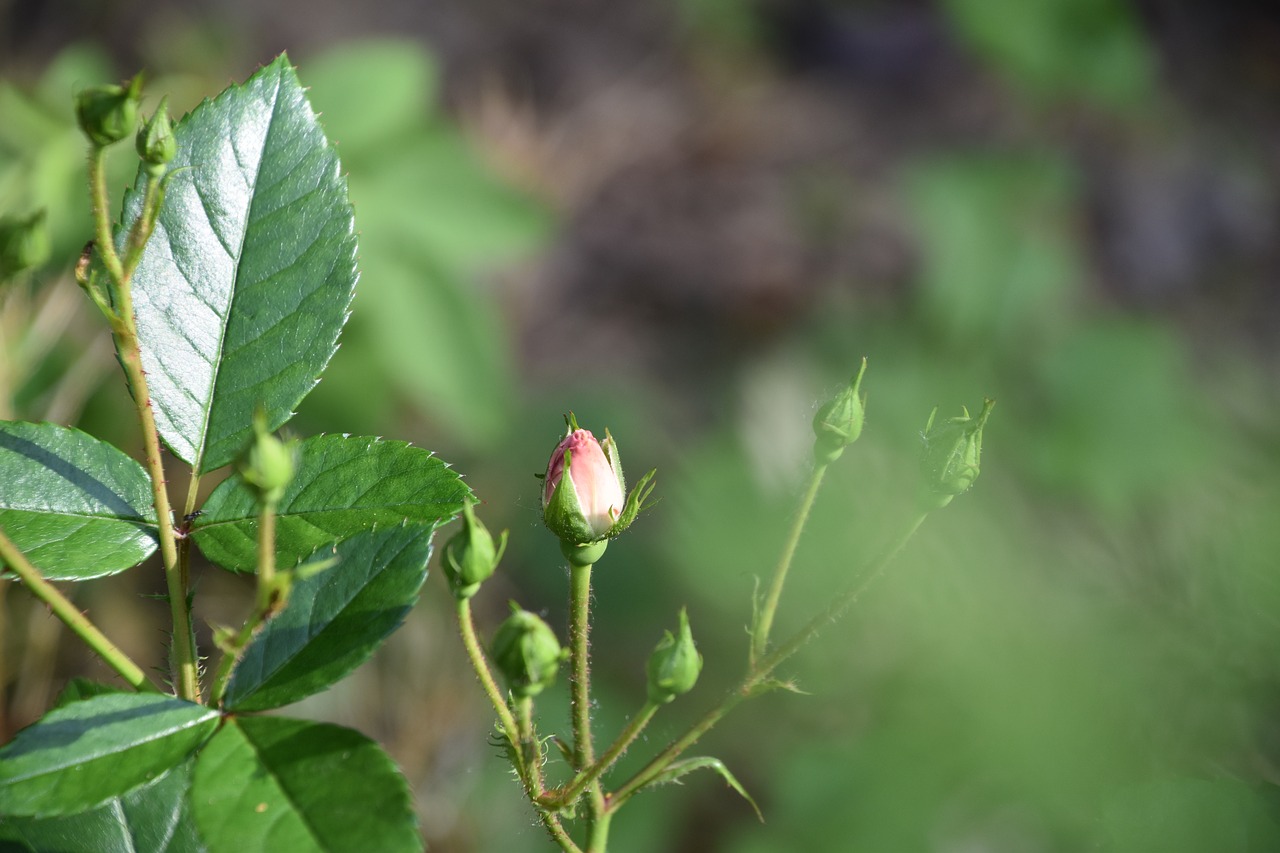
{"type": "Polygon", "coordinates": [[[90,193],[93,199],[93,225],[96,247],[108,273],[115,284],[113,296],[119,300],[114,306],[111,332],[115,333],[115,346],[120,365],[129,383],[133,405],[138,411],[142,428],[142,446],[146,455],[147,474],[151,478],[151,496],[156,508],[156,523],[160,532],[160,557],[164,561],[165,584],[169,596],[169,611],[173,616],[173,683],[177,694],[189,702],[200,701],[200,676],[196,669],[195,635],[191,630],[191,611],[187,607],[187,583],[183,566],[178,561],[177,537],[174,535],[173,512],[169,505],[164,461],[160,456],[160,434],[156,430],[155,414],[151,411],[151,393],[147,389],[146,371],[142,369],[142,348],[138,343],[138,328],[133,316],[133,295],[131,277],[141,259],[141,246],[151,236],[156,210],[160,204],[160,181],[147,182],[142,213],[125,241],[128,265],[122,264],[111,241],[111,224],[108,213],[106,177],[104,174],[105,151],[95,146],[90,152],[90,193]]]}

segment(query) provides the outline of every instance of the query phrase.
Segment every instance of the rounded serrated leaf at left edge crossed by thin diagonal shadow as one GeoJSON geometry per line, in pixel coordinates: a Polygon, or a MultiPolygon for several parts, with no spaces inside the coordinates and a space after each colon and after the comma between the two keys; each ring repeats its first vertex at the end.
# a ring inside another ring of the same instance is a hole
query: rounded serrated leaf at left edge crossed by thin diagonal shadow
{"type": "Polygon", "coordinates": [[[51,580],[123,571],[156,549],[151,480],[78,429],[0,421],[0,528],[51,580]]]}

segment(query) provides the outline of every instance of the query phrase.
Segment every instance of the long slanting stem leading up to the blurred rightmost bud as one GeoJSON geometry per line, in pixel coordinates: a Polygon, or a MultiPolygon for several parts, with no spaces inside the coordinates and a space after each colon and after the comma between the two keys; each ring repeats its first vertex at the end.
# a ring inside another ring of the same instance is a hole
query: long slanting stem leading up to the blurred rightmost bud
{"type": "Polygon", "coordinates": [[[618,788],[618,790],[614,792],[608,799],[608,811],[617,811],[632,794],[653,781],[671,765],[671,762],[698,743],[698,740],[707,734],[712,726],[719,722],[726,713],[732,711],[744,699],[749,699],[755,695],[763,686],[765,686],[765,680],[780,663],[795,654],[800,647],[813,639],[813,637],[822,628],[838,619],[845,610],[852,606],[863,596],[863,593],[872,587],[872,584],[879,580],[888,565],[895,557],[897,557],[899,552],[902,551],[906,543],[919,529],[925,515],[925,512],[918,514],[911,523],[906,525],[893,544],[881,555],[881,557],[867,573],[863,574],[860,580],[845,589],[845,592],[832,599],[827,607],[805,622],[804,628],[797,630],[786,642],[778,646],[772,653],[769,653],[768,657],[760,660],[755,666],[753,666],[739,685],[733,688],[733,690],[731,690],[718,706],[703,715],[703,717],[690,726],[685,734],[676,740],[672,740],[666,749],[653,758],[653,761],[645,765],[639,772],[618,788]]]}

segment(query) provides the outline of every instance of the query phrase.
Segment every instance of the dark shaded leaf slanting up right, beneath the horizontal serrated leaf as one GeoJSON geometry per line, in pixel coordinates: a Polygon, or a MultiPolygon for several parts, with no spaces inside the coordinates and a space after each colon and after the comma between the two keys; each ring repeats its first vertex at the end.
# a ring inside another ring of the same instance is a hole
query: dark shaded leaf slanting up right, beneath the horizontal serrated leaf
{"type": "Polygon", "coordinates": [[[370,530],[326,548],[324,571],[293,583],[289,602],[253,635],[223,704],[265,711],[317,693],[364,663],[417,601],[431,529],[370,530]]]}

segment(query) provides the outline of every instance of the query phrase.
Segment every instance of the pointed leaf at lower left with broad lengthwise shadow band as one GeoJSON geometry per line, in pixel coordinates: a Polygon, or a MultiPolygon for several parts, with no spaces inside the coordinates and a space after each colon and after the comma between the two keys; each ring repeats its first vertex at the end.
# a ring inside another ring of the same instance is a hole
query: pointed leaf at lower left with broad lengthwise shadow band
{"type": "Polygon", "coordinates": [[[154,693],[114,693],[50,711],[0,748],[0,815],[96,808],[179,765],[218,712],[154,693]]]}

